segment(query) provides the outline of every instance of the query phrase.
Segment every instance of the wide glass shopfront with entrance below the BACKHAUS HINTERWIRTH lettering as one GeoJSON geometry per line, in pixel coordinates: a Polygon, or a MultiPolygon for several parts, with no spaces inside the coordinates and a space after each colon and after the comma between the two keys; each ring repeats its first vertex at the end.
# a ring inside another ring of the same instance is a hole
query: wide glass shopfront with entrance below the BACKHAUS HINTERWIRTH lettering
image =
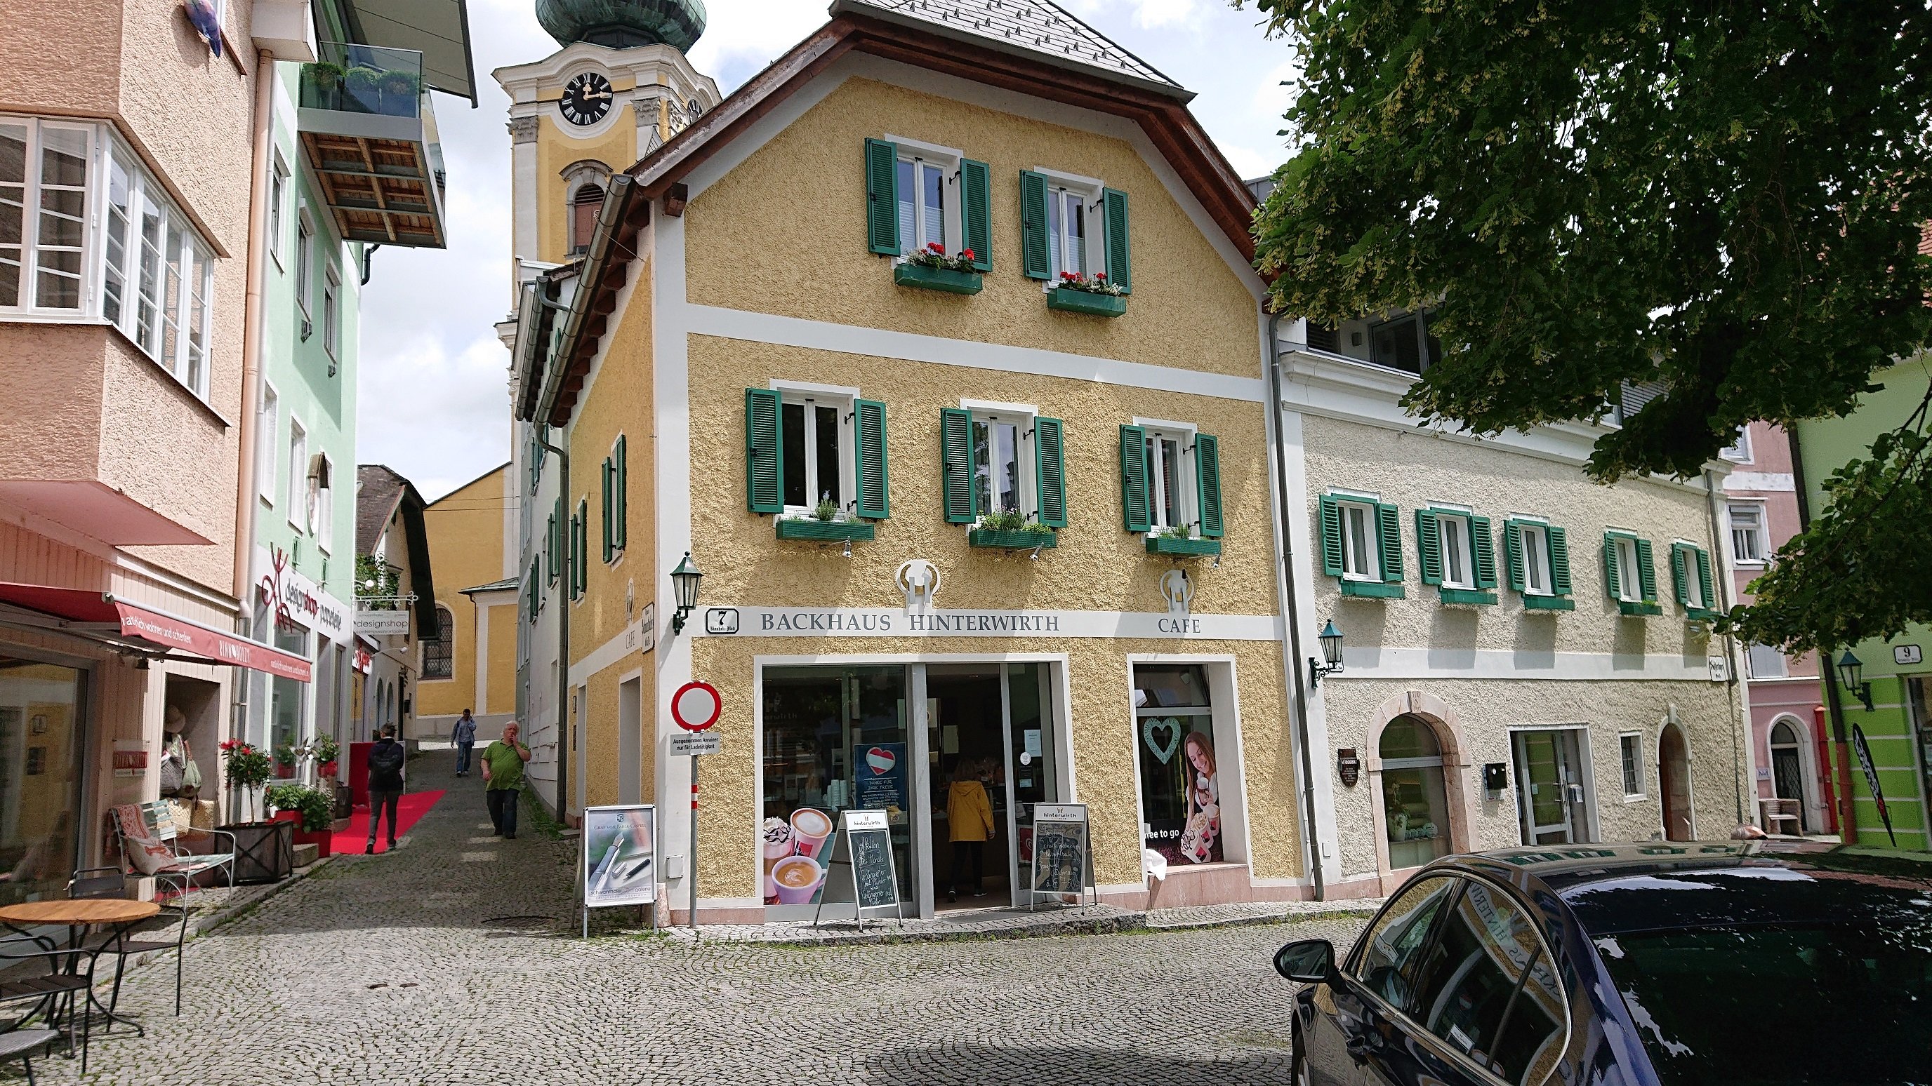
{"type": "Polygon", "coordinates": [[[1072,792],[1065,721],[1057,661],[761,667],[765,916],[817,910],[846,810],[887,812],[908,918],[1026,904],[1034,806],[1072,792]]]}

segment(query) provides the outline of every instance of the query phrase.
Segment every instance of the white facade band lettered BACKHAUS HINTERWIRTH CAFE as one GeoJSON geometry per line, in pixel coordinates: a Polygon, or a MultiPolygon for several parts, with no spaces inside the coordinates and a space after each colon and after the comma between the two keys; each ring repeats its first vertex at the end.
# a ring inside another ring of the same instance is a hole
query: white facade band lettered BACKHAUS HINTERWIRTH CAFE
{"type": "Polygon", "coordinates": [[[707,638],[1198,638],[1281,640],[1273,614],[1136,611],[923,611],[895,607],[709,607],[707,638]]]}

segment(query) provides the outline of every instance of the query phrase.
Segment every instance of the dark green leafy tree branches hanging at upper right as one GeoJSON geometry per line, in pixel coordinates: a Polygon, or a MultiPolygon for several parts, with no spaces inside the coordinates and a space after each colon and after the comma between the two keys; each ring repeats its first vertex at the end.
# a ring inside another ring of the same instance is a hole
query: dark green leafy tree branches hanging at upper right
{"type": "MultiPolygon", "coordinates": [[[[1302,62],[1302,149],[1256,214],[1258,267],[1283,311],[1323,323],[1432,305],[1443,359],[1406,396],[1422,419],[1600,419],[1623,383],[1660,383],[1588,472],[1694,475],[1747,421],[1849,412],[1932,336],[1926,0],[1256,6],[1302,62]]],[[[1924,512],[1907,444],[1874,450],[1897,472],[1868,514],[1924,512]]],[[[1922,595],[1909,616],[1812,605],[1932,584],[1932,549],[1859,551],[1880,535],[1820,516],[1764,580],[1752,636],[1810,647],[1932,618],[1922,595]],[[1812,580],[1828,570],[1835,586],[1812,580]]]]}

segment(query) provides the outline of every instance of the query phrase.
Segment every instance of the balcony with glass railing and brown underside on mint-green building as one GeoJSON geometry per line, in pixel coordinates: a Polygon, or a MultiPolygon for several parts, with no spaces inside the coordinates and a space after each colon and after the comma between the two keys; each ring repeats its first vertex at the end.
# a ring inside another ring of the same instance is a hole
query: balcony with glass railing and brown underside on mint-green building
{"type": "Polygon", "coordinates": [[[319,43],[301,66],[296,128],[336,230],[350,242],[440,249],[442,145],[423,54],[319,43]]]}

